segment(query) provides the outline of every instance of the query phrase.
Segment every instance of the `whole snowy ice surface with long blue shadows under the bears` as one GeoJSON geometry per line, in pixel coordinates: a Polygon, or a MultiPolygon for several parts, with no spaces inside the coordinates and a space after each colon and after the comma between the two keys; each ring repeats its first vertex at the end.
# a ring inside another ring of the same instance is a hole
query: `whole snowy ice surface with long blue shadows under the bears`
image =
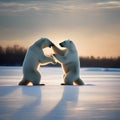
{"type": "Polygon", "coordinates": [[[40,69],[45,86],[17,86],[21,67],[0,67],[0,120],[119,120],[120,71],[81,69],[84,86],[61,86],[61,68],[40,69]]]}

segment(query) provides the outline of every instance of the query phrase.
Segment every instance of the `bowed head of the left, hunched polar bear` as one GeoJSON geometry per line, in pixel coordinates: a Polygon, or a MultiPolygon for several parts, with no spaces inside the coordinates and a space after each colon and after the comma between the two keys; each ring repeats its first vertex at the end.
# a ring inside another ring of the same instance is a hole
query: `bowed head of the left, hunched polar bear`
{"type": "Polygon", "coordinates": [[[37,40],[34,45],[40,47],[40,48],[46,48],[53,46],[53,43],[48,38],[41,38],[37,40]]]}

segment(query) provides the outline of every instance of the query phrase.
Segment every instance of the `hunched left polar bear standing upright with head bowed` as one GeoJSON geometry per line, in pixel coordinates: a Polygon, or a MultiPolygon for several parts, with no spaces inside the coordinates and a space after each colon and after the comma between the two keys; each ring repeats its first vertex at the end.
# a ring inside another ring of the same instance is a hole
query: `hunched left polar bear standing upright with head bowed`
{"type": "Polygon", "coordinates": [[[44,55],[43,49],[51,47],[53,43],[47,38],[41,38],[31,45],[25,55],[23,61],[23,79],[19,85],[28,85],[31,82],[33,85],[39,84],[41,75],[38,72],[39,66],[48,63],[55,63],[54,59],[44,55]]]}

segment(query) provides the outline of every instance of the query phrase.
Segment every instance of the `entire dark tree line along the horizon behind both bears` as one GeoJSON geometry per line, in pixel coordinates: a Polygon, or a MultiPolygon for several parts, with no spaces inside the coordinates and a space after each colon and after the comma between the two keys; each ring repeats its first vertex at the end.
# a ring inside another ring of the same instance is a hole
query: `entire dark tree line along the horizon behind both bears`
{"type": "MultiPolygon", "coordinates": [[[[22,66],[26,51],[24,47],[20,47],[19,45],[6,48],[0,46],[0,66],[22,66]]],[[[120,56],[117,58],[80,57],[80,63],[81,67],[120,68],[120,56]]],[[[60,65],[50,64],[48,66],[60,65]]]]}

